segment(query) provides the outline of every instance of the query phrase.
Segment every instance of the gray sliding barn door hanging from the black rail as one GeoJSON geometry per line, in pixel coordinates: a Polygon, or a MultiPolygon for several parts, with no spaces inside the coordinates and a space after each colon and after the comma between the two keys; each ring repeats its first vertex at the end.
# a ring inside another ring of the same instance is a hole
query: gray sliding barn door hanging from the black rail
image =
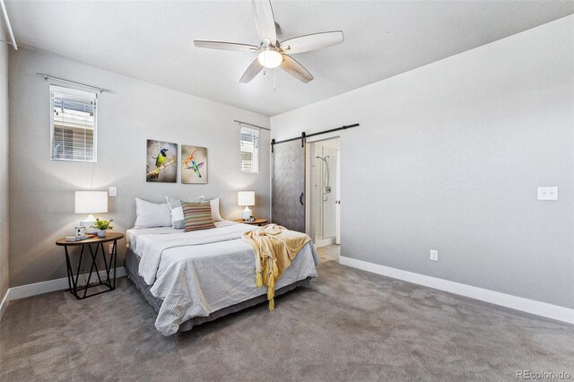
{"type": "Polygon", "coordinates": [[[305,148],[301,141],[274,144],[273,222],[305,232],[305,148]]]}

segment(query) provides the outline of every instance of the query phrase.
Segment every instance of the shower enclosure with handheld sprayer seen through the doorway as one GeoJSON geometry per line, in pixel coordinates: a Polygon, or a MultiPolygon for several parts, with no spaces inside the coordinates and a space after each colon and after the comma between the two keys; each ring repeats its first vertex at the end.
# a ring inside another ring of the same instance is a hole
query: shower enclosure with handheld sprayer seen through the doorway
{"type": "Polygon", "coordinates": [[[335,243],[338,140],[316,142],[311,164],[312,235],[317,246],[335,243]]]}

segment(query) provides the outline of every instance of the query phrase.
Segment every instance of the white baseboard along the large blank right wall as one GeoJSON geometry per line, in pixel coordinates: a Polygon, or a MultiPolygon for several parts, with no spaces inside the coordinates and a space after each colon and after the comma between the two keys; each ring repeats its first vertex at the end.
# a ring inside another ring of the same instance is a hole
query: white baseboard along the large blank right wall
{"type": "Polygon", "coordinates": [[[424,274],[407,272],[385,265],[368,263],[351,257],[339,257],[339,264],[351,266],[372,273],[382,274],[405,282],[413,282],[440,291],[448,291],[475,300],[490,302],[506,308],[521,310],[536,316],[548,317],[555,320],[574,324],[574,309],[559,307],[541,301],[528,300],[511,294],[490,291],[483,288],[466,285],[460,282],[449,282],[424,274]]]}

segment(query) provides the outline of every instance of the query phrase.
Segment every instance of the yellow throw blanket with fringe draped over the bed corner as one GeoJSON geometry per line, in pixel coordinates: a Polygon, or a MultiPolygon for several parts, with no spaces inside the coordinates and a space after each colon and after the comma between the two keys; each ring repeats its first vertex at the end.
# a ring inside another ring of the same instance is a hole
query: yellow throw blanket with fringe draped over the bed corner
{"type": "Polygon", "coordinates": [[[277,224],[267,224],[265,227],[246,232],[242,239],[247,241],[255,252],[256,285],[267,287],[269,310],[275,308],[275,283],[285,269],[291,265],[291,260],[297,256],[300,249],[311,238],[295,230],[287,230],[277,224]]]}

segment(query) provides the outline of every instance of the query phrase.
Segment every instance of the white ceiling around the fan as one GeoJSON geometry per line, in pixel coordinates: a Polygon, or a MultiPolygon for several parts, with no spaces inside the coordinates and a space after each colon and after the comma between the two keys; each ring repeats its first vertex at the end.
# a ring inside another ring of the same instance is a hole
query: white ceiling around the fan
{"type": "Polygon", "coordinates": [[[570,1],[272,4],[280,40],[344,30],[344,44],[294,55],[315,76],[308,84],[280,70],[275,90],[273,70],[240,84],[255,53],[194,47],[194,39],[258,45],[248,1],[8,1],[6,6],[19,44],[268,116],[574,13],[570,1]]]}

